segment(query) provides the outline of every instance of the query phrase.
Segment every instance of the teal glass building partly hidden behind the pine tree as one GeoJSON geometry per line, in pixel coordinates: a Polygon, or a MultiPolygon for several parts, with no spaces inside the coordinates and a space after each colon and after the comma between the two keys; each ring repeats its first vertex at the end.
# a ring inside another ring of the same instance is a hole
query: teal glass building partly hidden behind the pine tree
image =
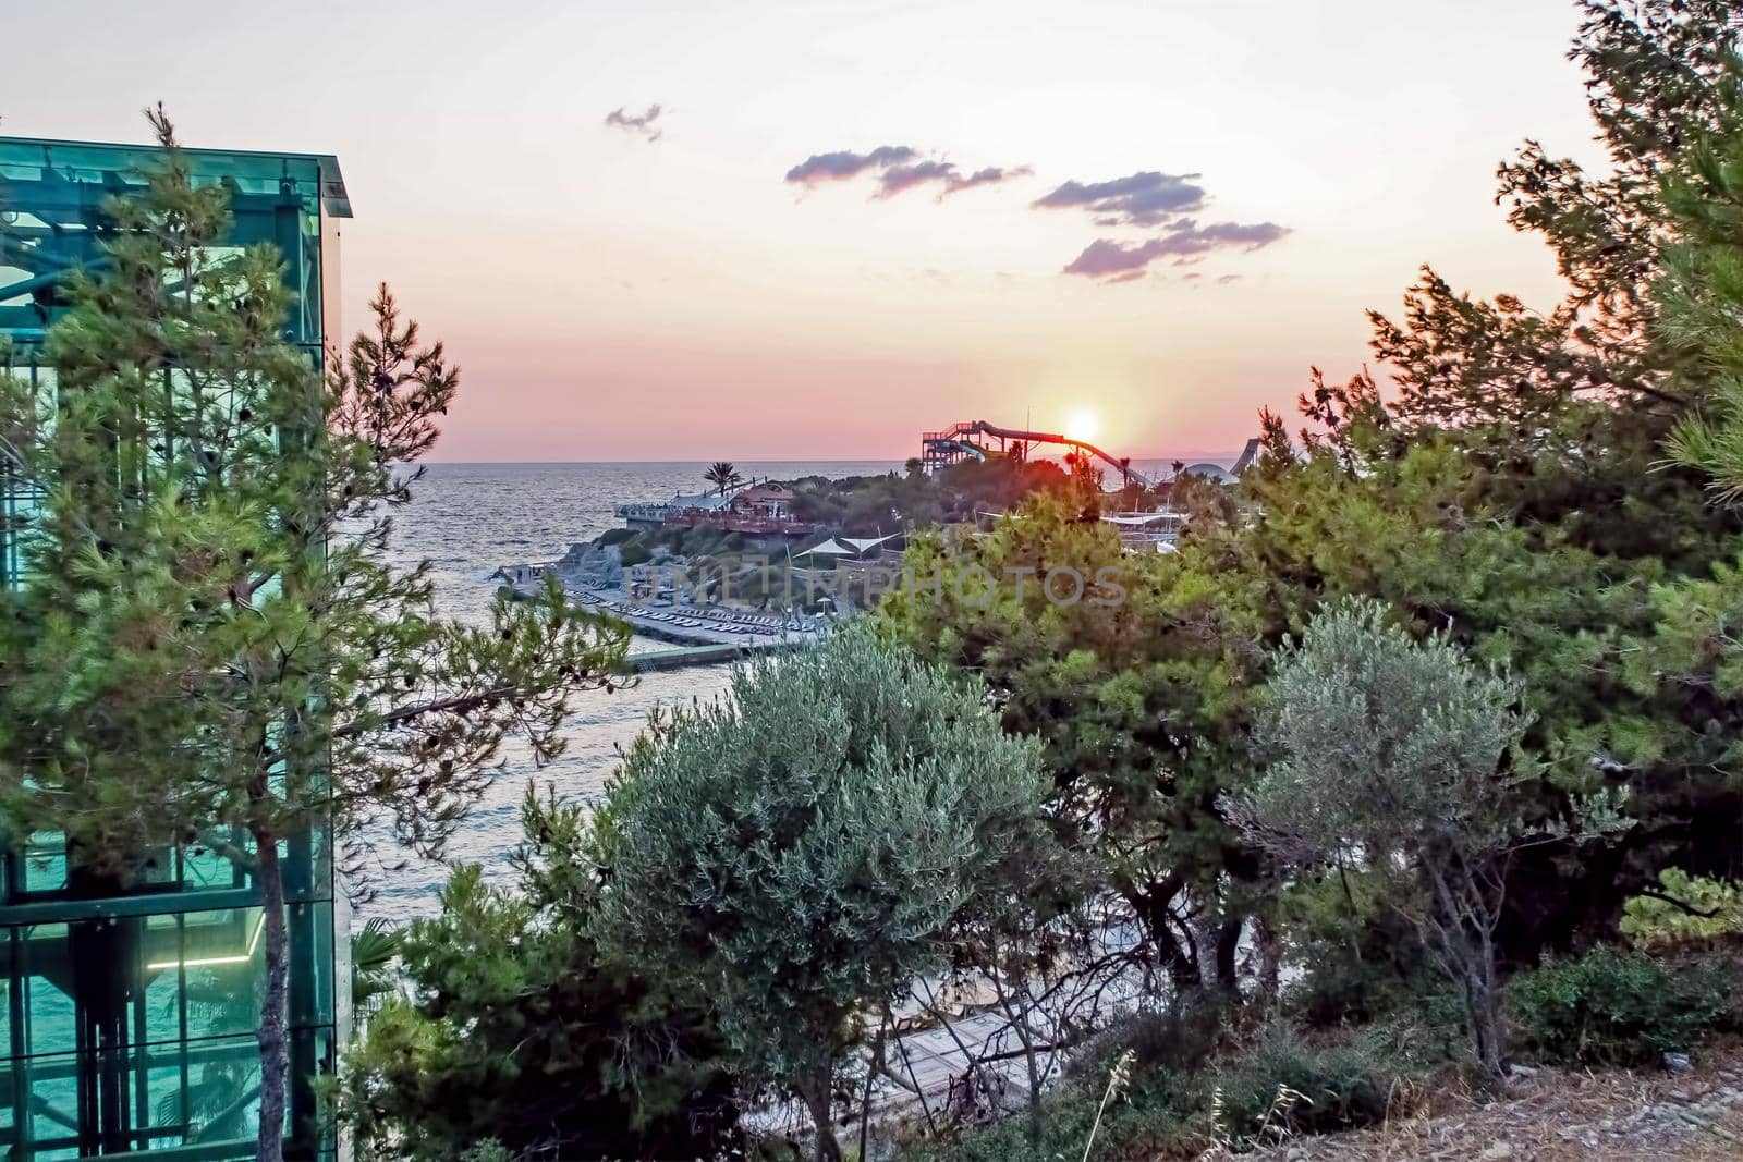
{"type": "MultiPolygon", "coordinates": [[[[157,159],[145,146],[0,138],[0,345],[10,341],[12,375],[45,395],[54,378],[38,354],[64,312],[59,284],[105,261],[108,199],[139,186],[157,159]]],[[[227,246],[272,242],[284,254],[286,338],[319,364],[338,336],[336,220],[350,218],[336,159],[188,150],[187,160],[195,183],[232,193],[227,246]]],[[[21,575],[33,503],[0,467],[0,585],[21,575]]],[[[70,862],[56,834],[0,850],[0,1162],[254,1157],[265,958],[248,847],[244,834],[202,836],[127,885],[70,862]]],[[[349,1033],[349,916],[328,834],[288,841],[281,857],[286,1157],[331,1159],[314,1080],[349,1033]]]]}

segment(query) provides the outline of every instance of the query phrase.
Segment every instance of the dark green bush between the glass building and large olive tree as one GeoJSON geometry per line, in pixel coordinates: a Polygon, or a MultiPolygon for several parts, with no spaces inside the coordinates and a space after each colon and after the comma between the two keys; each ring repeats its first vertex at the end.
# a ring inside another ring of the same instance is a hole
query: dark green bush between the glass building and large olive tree
{"type": "Polygon", "coordinates": [[[589,812],[521,807],[516,887],[462,864],[406,929],[410,996],[347,1051],[336,1101],[359,1159],[695,1159],[739,1145],[734,1077],[706,1007],[593,937],[589,812]]]}

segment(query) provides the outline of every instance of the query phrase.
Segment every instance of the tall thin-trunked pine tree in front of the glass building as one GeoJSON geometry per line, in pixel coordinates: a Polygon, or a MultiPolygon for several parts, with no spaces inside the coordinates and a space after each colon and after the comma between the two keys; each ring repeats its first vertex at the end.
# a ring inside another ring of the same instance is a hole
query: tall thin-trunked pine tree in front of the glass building
{"type": "Polygon", "coordinates": [[[575,690],[624,636],[539,601],[488,627],[434,613],[427,568],[385,559],[389,512],[437,439],[458,369],[382,287],[328,375],[282,340],[270,246],[221,246],[228,193],[195,186],[162,110],[162,167],[112,202],[108,263],[68,284],[52,399],[0,375],[0,455],[44,503],[0,618],[0,810],[64,833],[125,883],[213,845],[258,883],[260,1159],[281,1157],[288,939],[281,841],[331,828],[361,861],[390,821],[431,854],[511,732],[561,749],[575,690]],[[223,843],[241,831],[248,850],[223,843]]]}

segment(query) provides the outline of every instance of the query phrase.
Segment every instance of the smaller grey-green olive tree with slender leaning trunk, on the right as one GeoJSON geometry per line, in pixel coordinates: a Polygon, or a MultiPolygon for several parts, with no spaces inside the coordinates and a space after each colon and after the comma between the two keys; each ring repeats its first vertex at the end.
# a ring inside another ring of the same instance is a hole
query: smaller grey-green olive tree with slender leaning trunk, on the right
{"type": "Polygon", "coordinates": [[[1285,646],[1255,735],[1276,756],[1232,803],[1285,864],[1379,871],[1389,902],[1461,990],[1478,1064],[1502,1077],[1495,927],[1506,859],[1537,841],[1506,760],[1523,686],[1443,634],[1417,641],[1372,599],[1321,611],[1285,646]]]}

